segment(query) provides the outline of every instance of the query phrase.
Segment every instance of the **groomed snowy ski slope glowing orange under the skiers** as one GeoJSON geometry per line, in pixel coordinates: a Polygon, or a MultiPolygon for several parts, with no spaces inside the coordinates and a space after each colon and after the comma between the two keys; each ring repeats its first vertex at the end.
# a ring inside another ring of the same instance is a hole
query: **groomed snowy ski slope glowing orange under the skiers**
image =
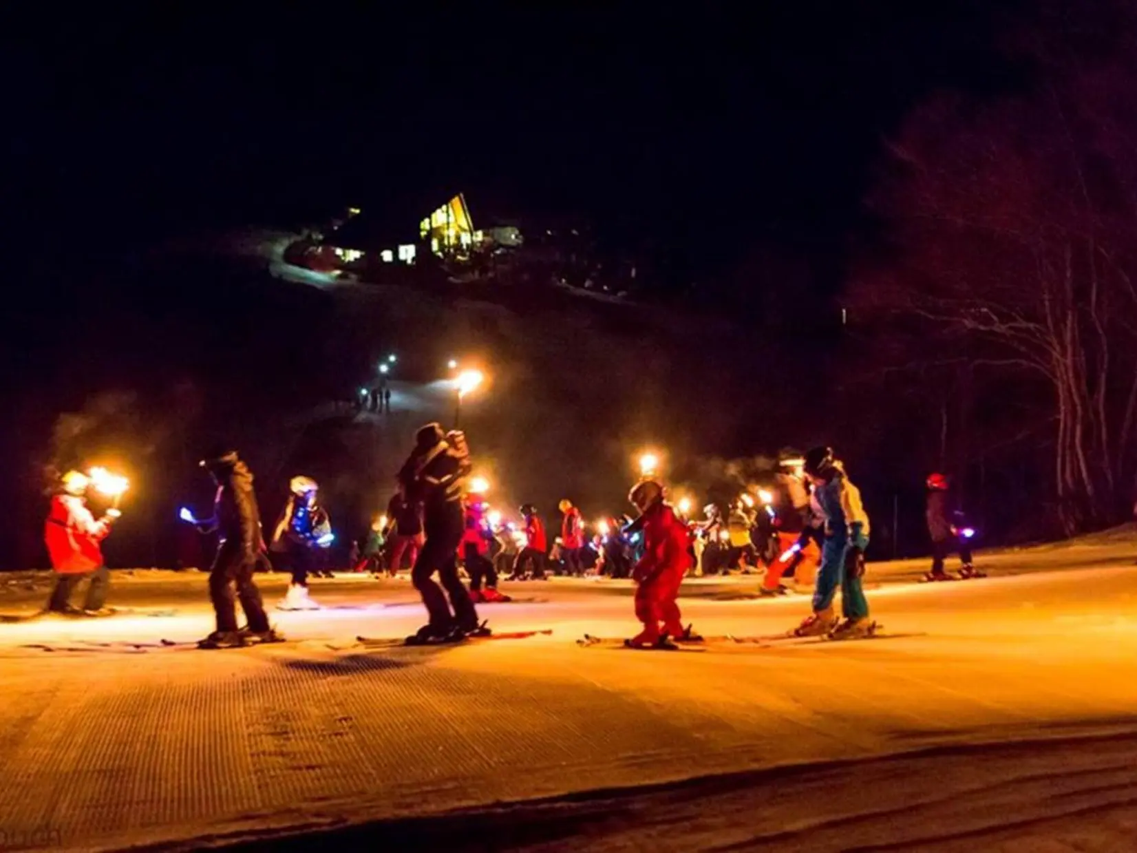
{"type": "MultiPolygon", "coordinates": [[[[630,586],[587,579],[481,607],[549,637],[358,647],[423,613],[406,581],[342,578],[314,581],[325,610],[279,614],[297,643],[160,648],[209,630],[205,575],[118,573],[113,604],[176,614],[0,626],[0,831],[68,850],[315,830],[332,835],[293,844],[1130,850],[1134,553],[1129,532],[1009,552],[957,583],[873,565],[873,615],[905,636],[692,653],[576,647],[634,628],[630,586]]],[[[43,593],[15,580],[9,614],[43,593]]],[[[269,602],[284,582],[265,579],[269,602]]],[[[756,582],[694,580],[684,615],[764,635],[808,611],[732,601],[756,582]]]]}

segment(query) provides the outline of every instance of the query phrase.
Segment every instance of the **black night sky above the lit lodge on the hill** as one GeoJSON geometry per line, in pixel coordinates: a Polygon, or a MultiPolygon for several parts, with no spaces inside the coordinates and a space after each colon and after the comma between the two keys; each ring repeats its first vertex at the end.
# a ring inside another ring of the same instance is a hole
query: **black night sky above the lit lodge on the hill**
{"type": "Polygon", "coordinates": [[[49,231],[176,229],[457,185],[708,263],[770,234],[831,250],[880,134],[989,84],[1001,5],[750,6],[60,15],[9,28],[8,197],[49,231]]]}

